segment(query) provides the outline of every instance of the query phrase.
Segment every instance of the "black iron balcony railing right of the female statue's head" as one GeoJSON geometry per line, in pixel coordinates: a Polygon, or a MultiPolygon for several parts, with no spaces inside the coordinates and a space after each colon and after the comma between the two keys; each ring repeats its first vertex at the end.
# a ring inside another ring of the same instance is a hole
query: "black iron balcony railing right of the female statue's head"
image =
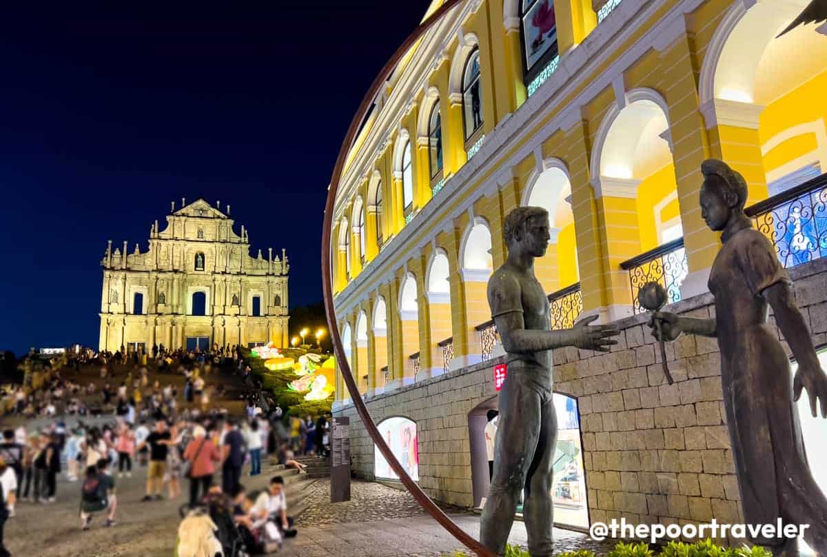
{"type": "Polygon", "coordinates": [[[827,257],[827,174],[746,209],[785,267],[827,257]]]}

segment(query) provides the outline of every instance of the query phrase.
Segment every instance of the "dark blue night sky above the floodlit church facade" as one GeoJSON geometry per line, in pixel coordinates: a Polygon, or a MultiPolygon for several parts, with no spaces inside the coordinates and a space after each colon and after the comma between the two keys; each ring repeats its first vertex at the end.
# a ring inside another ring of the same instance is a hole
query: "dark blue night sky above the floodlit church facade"
{"type": "Polygon", "coordinates": [[[253,253],[288,250],[291,305],[321,300],[342,137],[428,7],[126,3],[0,18],[0,349],[97,347],[107,240],[146,249],[182,197],[231,204],[253,253]]]}

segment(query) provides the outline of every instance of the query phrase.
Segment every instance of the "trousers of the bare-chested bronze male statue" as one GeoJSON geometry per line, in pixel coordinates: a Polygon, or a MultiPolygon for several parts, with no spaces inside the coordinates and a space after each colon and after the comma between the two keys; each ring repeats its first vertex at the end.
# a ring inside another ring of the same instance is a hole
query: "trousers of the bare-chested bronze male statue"
{"type": "Polygon", "coordinates": [[[552,555],[552,465],[557,414],[547,370],[509,370],[500,391],[500,424],[494,446],[494,479],[485,500],[480,542],[504,555],[520,492],[532,557],[552,555]]]}

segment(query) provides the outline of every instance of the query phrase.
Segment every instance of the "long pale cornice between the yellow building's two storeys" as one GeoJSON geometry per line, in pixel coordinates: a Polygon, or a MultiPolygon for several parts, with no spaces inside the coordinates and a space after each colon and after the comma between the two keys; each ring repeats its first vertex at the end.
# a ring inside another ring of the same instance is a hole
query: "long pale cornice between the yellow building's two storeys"
{"type": "Polygon", "coordinates": [[[612,86],[614,76],[622,74],[636,61],[660,44],[663,33],[676,28],[674,19],[683,18],[685,13],[696,10],[704,0],[683,0],[676,3],[664,16],[649,26],[642,36],[629,48],[619,49],[640,29],[640,25],[653,19],[661,7],[655,0],[628,0],[615,8],[612,17],[607,18],[586,37],[580,46],[561,58],[560,65],[537,91],[520,107],[506,115],[495,129],[488,134],[471,161],[461,166],[457,173],[447,180],[439,194],[419,210],[416,218],[408,223],[382,251],[368,262],[361,274],[351,281],[335,298],[337,315],[345,315],[356,300],[367,292],[374,291],[380,277],[394,271],[409,258],[408,247],[431,230],[452,229],[451,219],[467,211],[487,190],[487,183],[476,184],[483,176],[487,180],[498,180],[497,169],[513,168],[551,137],[557,130],[571,129],[581,118],[581,108],[597,97],[600,92],[612,86]],[[614,46],[614,48],[613,48],[614,46]],[[614,60],[612,60],[614,58],[614,60]],[[613,71],[600,73],[598,70],[611,65],[613,71]],[[590,76],[584,87],[580,76],[590,76]],[[579,93],[578,93],[579,90],[579,93]],[[560,107],[554,98],[568,98],[571,102],[560,107]],[[550,113],[557,113],[543,125],[532,128],[531,122],[542,121],[550,113]],[[527,138],[526,131],[533,131],[527,138]],[[457,204],[457,202],[460,202],[457,204]],[[454,208],[448,211],[448,208],[454,208]]]}

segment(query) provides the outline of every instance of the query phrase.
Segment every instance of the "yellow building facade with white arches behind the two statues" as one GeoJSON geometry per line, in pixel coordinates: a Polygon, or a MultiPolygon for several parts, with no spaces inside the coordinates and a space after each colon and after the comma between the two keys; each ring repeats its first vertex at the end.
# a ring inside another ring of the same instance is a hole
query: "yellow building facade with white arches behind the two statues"
{"type": "MultiPolygon", "coordinates": [[[[432,11],[439,5],[434,2],[432,11]]],[[[719,238],[700,163],[748,206],[827,166],[827,28],[806,0],[467,0],[404,56],[347,156],[335,307],[372,396],[497,353],[485,287],[504,216],[540,205],[552,320],[636,313],[636,288],[707,291],[719,238]]],[[[337,376],[337,405],[347,390],[337,376]]]]}

